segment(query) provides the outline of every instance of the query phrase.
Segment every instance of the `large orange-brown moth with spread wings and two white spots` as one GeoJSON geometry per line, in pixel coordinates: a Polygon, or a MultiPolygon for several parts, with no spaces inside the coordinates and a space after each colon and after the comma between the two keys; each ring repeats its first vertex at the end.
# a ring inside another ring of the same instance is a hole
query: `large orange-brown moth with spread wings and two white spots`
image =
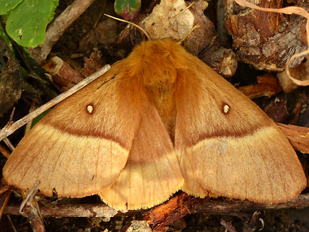
{"type": "Polygon", "coordinates": [[[286,202],[306,187],[295,150],[266,114],[173,40],[148,40],[58,104],[3,167],[9,185],[116,209],[181,189],[286,202]],[[103,80],[111,79],[105,84],[103,80]]]}

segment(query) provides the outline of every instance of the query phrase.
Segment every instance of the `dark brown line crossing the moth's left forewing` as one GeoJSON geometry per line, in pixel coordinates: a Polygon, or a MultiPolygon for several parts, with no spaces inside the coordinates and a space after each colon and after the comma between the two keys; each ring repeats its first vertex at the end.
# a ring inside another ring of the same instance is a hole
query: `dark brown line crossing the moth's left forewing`
{"type": "Polygon", "coordinates": [[[74,135],[77,137],[92,137],[92,138],[106,139],[108,141],[114,141],[115,143],[118,143],[119,146],[121,146],[122,148],[129,150],[128,144],[125,141],[122,141],[119,138],[112,137],[111,135],[108,135],[104,132],[98,132],[95,130],[78,130],[77,128],[62,128],[60,126],[56,126],[55,124],[46,124],[46,125],[51,126],[56,130],[60,130],[61,132],[65,132],[67,134],[74,135]]]}

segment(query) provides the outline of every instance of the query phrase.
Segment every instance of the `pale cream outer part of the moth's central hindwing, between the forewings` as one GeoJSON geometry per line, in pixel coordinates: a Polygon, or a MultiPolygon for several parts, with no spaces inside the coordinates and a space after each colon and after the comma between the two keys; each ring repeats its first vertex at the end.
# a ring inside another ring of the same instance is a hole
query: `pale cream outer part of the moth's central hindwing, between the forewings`
{"type": "Polygon", "coordinates": [[[171,152],[142,163],[129,158],[116,183],[100,196],[116,209],[146,209],[164,202],[182,185],[179,161],[171,152]]]}

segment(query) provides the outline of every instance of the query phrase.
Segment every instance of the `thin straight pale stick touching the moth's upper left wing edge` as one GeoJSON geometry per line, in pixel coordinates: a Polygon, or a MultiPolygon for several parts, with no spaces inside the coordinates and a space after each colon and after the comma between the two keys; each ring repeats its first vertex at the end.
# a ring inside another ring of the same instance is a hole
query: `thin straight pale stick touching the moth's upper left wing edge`
{"type": "Polygon", "coordinates": [[[111,66],[105,65],[104,67],[102,67],[102,69],[91,74],[88,78],[82,80],[81,82],[79,82],[78,84],[73,86],[71,89],[66,91],[65,93],[61,93],[60,95],[55,97],[53,100],[51,100],[51,101],[47,102],[46,104],[44,104],[43,106],[37,108],[32,113],[29,113],[28,115],[25,115],[25,117],[23,117],[22,119],[19,119],[18,121],[14,122],[14,124],[9,124],[9,125],[5,126],[4,128],[2,128],[2,130],[0,130],[0,141],[2,139],[4,139],[5,137],[8,137],[9,135],[11,135],[15,130],[21,128],[21,126],[25,125],[31,119],[34,119],[34,117],[41,115],[41,113],[47,111],[47,109],[58,104],[62,100],[65,100],[65,98],[69,97],[73,93],[76,93],[77,91],[82,89],[84,86],[86,86],[87,84],[92,82],[93,80],[102,76],[104,73],[106,73],[106,71],[108,71],[108,69],[111,69],[111,66]]]}

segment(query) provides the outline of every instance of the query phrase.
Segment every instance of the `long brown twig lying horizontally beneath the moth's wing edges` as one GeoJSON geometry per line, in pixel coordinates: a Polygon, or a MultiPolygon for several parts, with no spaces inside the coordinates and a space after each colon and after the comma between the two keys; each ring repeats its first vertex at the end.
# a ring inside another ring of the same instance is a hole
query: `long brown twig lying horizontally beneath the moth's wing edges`
{"type": "MultiPolygon", "coordinates": [[[[184,194],[184,193],[183,193],[184,194]]],[[[179,197],[179,196],[176,196],[179,197]]],[[[174,197],[175,198],[175,197],[174,197]]],[[[174,198],[170,199],[173,200],[174,198]]],[[[202,199],[203,200],[203,199],[202,199]]],[[[190,200],[192,202],[192,199],[190,200]]],[[[167,204],[166,202],[165,204],[167,204]]],[[[197,202],[200,204],[196,209],[190,211],[190,213],[209,213],[218,215],[235,215],[239,211],[258,211],[264,209],[290,209],[290,208],[305,208],[309,207],[309,194],[301,194],[294,200],[279,204],[260,204],[250,202],[248,200],[225,200],[211,199],[204,202],[197,202]]],[[[163,204],[164,205],[164,204],[163,204]]],[[[20,215],[19,204],[8,205],[5,208],[5,214],[20,215]]],[[[159,205],[158,207],[162,207],[159,205]]],[[[157,207],[151,209],[157,209],[157,207]]],[[[137,211],[120,212],[116,209],[112,209],[104,204],[71,204],[71,205],[40,205],[40,211],[43,217],[105,217],[111,218],[116,215],[132,215],[137,211]]],[[[139,211],[140,212],[140,211],[139,211]]],[[[146,213],[150,213],[149,210],[145,210],[146,213]]],[[[183,211],[179,210],[179,213],[183,211]]],[[[166,215],[169,214],[165,211],[166,215]]],[[[184,216],[184,215],[183,215],[184,216]]]]}

